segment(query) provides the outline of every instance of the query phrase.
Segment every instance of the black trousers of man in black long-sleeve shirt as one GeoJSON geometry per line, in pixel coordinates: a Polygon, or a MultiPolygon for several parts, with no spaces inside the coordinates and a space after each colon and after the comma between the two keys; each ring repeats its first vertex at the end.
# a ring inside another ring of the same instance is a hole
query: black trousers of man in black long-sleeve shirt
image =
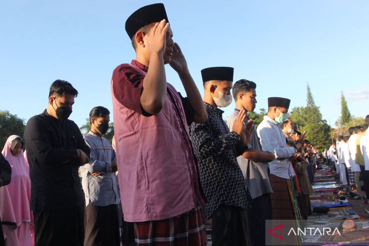
{"type": "Polygon", "coordinates": [[[33,211],[35,246],[83,246],[83,207],[33,211]]]}

